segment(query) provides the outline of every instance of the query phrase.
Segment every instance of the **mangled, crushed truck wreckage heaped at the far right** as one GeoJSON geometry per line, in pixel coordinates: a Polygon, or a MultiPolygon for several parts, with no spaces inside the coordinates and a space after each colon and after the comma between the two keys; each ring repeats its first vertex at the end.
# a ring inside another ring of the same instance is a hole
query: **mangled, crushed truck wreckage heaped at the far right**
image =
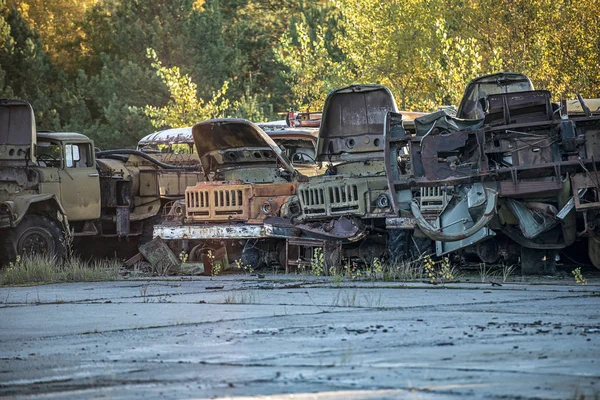
{"type": "MultiPolygon", "coordinates": [[[[582,109],[587,109],[582,101],[582,109]]],[[[435,241],[437,255],[520,259],[523,273],[552,273],[559,251],[588,241],[600,266],[600,116],[569,115],[521,74],[473,80],[453,118],[386,119],[386,168],[398,218],[435,241]]],[[[397,236],[410,240],[409,231],[397,236]]]]}

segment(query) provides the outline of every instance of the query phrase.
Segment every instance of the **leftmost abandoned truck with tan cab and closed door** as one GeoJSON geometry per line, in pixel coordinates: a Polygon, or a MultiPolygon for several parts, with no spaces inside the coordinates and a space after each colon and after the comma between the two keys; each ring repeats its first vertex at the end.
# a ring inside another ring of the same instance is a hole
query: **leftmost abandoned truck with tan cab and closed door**
{"type": "Polygon", "coordinates": [[[62,256],[71,238],[140,237],[203,180],[134,150],[95,153],[78,133],[36,132],[31,105],[0,100],[0,257],[62,256]]]}

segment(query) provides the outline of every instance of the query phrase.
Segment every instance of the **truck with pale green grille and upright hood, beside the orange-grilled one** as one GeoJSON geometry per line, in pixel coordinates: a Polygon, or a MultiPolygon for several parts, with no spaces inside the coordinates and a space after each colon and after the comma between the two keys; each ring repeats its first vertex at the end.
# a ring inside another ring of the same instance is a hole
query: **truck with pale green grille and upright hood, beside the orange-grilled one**
{"type": "Polygon", "coordinates": [[[390,111],[397,112],[396,102],[380,85],[336,89],[325,101],[316,160],[326,170],[300,184],[296,225],[328,243],[329,266],[341,265],[342,257],[370,262],[385,253],[385,219],[393,216],[383,154],[390,111]]]}

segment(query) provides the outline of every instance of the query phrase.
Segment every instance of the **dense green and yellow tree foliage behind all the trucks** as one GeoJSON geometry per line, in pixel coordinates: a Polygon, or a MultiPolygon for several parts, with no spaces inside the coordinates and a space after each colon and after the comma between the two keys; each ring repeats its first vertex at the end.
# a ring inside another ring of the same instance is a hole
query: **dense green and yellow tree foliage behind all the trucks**
{"type": "Polygon", "coordinates": [[[600,97],[600,0],[0,0],[0,97],[100,147],[211,117],[318,110],[389,86],[398,106],[458,104],[518,71],[555,98],[600,97]]]}

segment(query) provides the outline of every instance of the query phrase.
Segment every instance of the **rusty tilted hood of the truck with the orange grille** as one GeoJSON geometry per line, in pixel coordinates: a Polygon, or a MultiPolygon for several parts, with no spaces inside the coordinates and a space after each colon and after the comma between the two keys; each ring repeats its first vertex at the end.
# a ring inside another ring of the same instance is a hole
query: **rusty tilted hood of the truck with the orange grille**
{"type": "Polygon", "coordinates": [[[192,128],[196,150],[206,174],[222,168],[294,167],[258,125],[245,119],[211,119],[192,128]]]}

